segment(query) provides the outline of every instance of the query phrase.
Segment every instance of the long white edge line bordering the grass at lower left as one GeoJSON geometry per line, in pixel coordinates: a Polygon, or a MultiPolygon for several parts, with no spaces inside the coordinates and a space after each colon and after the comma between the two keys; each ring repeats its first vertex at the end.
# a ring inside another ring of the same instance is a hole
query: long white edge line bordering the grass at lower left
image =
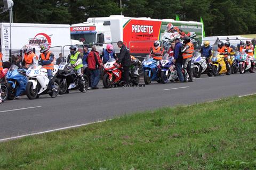
{"type": "MultiPolygon", "coordinates": [[[[109,119],[109,120],[111,120],[111,119],[109,119]]],[[[106,122],[106,121],[107,120],[96,121],[96,122],[91,122],[91,123],[78,124],[78,125],[74,125],[74,126],[67,126],[65,128],[58,128],[58,129],[53,129],[53,130],[49,130],[49,131],[43,131],[43,132],[37,132],[37,133],[29,133],[29,134],[24,134],[24,135],[16,136],[16,137],[0,139],[0,142],[6,141],[6,140],[11,140],[11,139],[18,139],[18,138],[28,137],[28,136],[36,135],[36,134],[43,134],[43,133],[49,133],[49,132],[54,132],[54,131],[66,130],[66,129],[71,129],[71,128],[78,128],[80,126],[85,126],[85,125],[94,124],[94,123],[100,123],[100,122],[106,122]]]]}

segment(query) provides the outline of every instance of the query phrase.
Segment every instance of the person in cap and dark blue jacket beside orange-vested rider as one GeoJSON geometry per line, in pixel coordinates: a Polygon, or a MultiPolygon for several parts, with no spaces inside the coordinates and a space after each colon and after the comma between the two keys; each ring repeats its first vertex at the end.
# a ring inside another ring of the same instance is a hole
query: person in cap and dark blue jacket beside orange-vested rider
{"type": "Polygon", "coordinates": [[[175,62],[175,66],[177,68],[177,73],[178,73],[178,77],[179,77],[180,82],[184,82],[184,77],[183,77],[183,74],[182,74],[183,57],[182,57],[182,53],[181,53],[181,48],[183,47],[183,45],[180,43],[179,38],[175,38],[174,43],[175,43],[175,47],[174,47],[174,60],[173,60],[173,62],[175,62]]]}

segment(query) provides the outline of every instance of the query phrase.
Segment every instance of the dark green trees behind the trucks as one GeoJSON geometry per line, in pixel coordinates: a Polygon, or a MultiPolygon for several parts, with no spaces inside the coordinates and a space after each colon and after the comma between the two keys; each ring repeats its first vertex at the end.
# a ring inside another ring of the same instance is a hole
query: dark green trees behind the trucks
{"type": "MultiPolygon", "coordinates": [[[[73,24],[89,17],[118,15],[198,21],[202,16],[206,36],[256,33],[256,0],[13,0],[13,22],[73,24]]],[[[0,1],[0,21],[9,11],[0,1]]]]}

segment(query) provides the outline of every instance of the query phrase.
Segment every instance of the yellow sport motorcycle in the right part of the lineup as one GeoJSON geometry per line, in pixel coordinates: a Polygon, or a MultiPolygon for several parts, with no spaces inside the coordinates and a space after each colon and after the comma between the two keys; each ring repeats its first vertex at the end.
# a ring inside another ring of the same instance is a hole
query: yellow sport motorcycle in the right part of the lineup
{"type": "MultiPolygon", "coordinates": [[[[211,57],[212,61],[212,74],[214,76],[218,76],[220,74],[226,73],[227,75],[231,74],[231,67],[230,65],[226,65],[224,61],[224,55],[221,55],[219,52],[215,51],[213,52],[213,55],[211,57]]],[[[229,62],[231,59],[229,58],[229,62]]]]}

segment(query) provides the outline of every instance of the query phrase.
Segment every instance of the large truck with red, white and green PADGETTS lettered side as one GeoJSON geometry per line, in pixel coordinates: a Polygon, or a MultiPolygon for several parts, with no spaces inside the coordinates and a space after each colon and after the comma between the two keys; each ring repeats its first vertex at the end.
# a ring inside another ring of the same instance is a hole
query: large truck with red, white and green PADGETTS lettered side
{"type": "Polygon", "coordinates": [[[72,24],[70,33],[71,39],[82,40],[86,44],[98,44],[101,46],[99,50],[106,48],[108,43],[113,43],[117,53],[119,48],[116,43],[122,40],[130,48],[131,54],[140,56],[150,52],[155,40],[163,40],[166,25],[169,23],[185,33],[193,32],[196,35],[194,39],[202,41],[203,27],[200,22],[130,18],[123,15],[89,18],[87,22],[72,24]]]}

